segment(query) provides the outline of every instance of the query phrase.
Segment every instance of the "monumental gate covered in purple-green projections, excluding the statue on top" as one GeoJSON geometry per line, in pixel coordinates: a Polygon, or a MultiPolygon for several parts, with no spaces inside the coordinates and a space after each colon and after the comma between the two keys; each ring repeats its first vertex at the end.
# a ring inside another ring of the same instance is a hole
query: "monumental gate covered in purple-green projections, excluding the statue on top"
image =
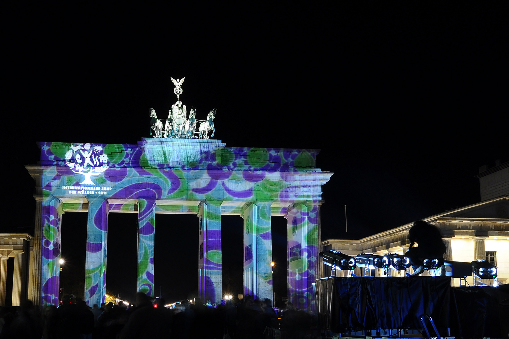
{"type": "MultiPolygon", "coordinates": [[[[199,291],[218,302],[221,214],[244,225],[244,294],[272,298],[271,215],[288,220],[288,297],[314,308],[320,275],[321,186],[332,173],[316,168],[318,150],[227,147],[220,140],[143,138],[137,145],[41,142],[36,180],[34,274],[29,298],[58,304],[62,214],[88,211],[85,299],[106,293],[110,212],[138,213],[137,289],[153,295],[155,213],[199,217],[199,291]],[[37,254],[40,254],[39,256],[37,254]]],[[[240,255],[240,254],[239,254],[240,255]]],[[[171,258],[170,258],[171,259],[171,258]]]]}

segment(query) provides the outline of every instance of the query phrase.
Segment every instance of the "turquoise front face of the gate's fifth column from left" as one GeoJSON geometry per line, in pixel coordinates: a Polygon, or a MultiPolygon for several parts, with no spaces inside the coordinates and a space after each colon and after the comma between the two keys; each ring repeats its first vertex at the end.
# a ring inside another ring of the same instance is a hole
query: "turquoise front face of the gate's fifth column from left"
{"type": "Polygon", "coordinates": [[[256,298],[272,300],[272,223],[270,220],[270,201],[257,201],[256,215],[256,298]]]}

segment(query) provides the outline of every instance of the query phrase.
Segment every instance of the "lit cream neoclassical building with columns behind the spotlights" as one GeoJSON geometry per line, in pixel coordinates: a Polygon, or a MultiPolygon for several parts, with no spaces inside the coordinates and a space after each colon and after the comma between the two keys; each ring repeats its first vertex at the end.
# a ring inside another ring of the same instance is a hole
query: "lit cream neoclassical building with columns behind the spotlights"
{"type": "MultiPolygon", "coordinates": [[[[490,261],[498,268],[498,284],[509,283],[509,162],[491,169],[479,168],[481,202],[446,211],[423,219],[437,226],[446,245],[446,260],[490,261]]],[[[322,241],[324,251],[337,250],[355,256],[362,252],[404,254],[409,246],[408,231],[413,221],[362,239],[328,239],[322,241]]],[[[361,269],[357,268],[357,275],[361,269]]],[[[340,271],[338,275],[347,274],[340,271]]],[[[375,274],[384,274],[376,270],[375,274]]],[[[389,273],[390,274],[390,273],[389,273]]],[[[424,274],[429,274],[425,272],[424,274]]],[[[473,284],[473,277],[467,278],[473,284]]],[[[459,278],[451,281],[459,286],[459,278]]]]}

